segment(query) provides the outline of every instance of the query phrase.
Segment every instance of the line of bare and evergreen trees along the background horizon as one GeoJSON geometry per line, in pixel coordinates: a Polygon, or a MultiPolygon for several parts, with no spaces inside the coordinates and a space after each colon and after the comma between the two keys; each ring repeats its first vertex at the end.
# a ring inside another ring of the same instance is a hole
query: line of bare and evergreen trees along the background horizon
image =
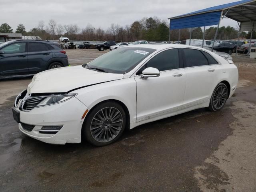
{"type": "MultiPolygon", "coordinates": [[[[214,39],[216,27],[210,27],[205,31],[205,39],[214,39]]],[[[192,39],[202,39],[202,28],[191,28],[192,39]]],[[[13,29],[6,23],[0,25],[0,32],[12,33],[13,29]]],[[[88,40],[88,41],[105,41],[115,40],[116,42],[132,42],[136,40],[148,41],[168,41],[169,40],[169,24],[160,20],[156,16],[150,18],[142,18],[134,21],[130,25],[120,26],[112,23],[106,30],[101,27],[94,27],[87,24],[84,28],[79,28],[76,24],[58,24],[51,19],[46,24],[44,21],[39,21],[38,25],[29,31],[26,31],[24,24],[18,24],[16,33],[21,33],[24,36],[39,36],[44,40],[58,40],[60,36],[67,36],[70,40],[88,40]]],[[[171,41],[178,40],[179,30],[171,30],[171,41]]],[[[217,38],[221,40],[234,39],[238,37],[238,30],[230,26],[220,27],[217,38]]],[[[250,39],[250,32],[241,32],[240,37],[250,39]]],[[[180,40],[190,38],[190,29],[180,30],[180,40]]],[[[253,37],[256,38],[256,32],[253,37]]]]}

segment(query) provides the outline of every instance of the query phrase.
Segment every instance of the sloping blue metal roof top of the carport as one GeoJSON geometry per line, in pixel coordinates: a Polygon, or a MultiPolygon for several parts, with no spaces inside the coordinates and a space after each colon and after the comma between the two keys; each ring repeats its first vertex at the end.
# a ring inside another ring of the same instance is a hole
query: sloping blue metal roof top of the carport
{"type": "Polygon", "coordinates": [[[168,18],[168,19],[180,18],[180,17],[190,16],[190,15],[194,15],[194,14],[200,14],[200,13],[204,13],[204,12],[214,12],[216,10],[224,10],[224,9],[228,9],[230,7],[233,7],[233,6],[239,6],[241,4],[246,4],[248,2],[253,2],[253,1],[254,0],[242,0],[242,1],[237,1],[237,2],[227,3],[227,4],[223,4],[223,5],[218,5],[218,6],[209,7],[209,8],[206,8],[206,9],[194,11],[194,12],[191,12],[191,13],[186,13],[186,14],[176,16],[176,17],[172,17],[172,18],[168,18]]]}

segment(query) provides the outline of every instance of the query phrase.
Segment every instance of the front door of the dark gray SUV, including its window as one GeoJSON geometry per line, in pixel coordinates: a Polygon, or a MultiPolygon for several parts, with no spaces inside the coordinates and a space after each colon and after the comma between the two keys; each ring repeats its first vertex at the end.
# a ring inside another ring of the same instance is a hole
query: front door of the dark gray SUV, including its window
{"type": "Polygon", "coordinates": [[[4,54],[0,54],[0,76],[29,74],[26,42],[14,42],[1,50],[4,54]]]}

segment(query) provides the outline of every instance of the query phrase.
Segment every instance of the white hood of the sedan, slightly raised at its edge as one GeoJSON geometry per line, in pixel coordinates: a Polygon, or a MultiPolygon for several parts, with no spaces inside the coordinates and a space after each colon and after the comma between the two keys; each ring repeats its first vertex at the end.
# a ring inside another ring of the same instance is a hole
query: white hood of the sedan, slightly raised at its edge
{"type": "Polygon", "coordinates": [[[64,93],[83,86],[122,79],[123,74],[104,73],[82,66],[63,67],[36,74],[28,85],[28,94],[64,93]]]}

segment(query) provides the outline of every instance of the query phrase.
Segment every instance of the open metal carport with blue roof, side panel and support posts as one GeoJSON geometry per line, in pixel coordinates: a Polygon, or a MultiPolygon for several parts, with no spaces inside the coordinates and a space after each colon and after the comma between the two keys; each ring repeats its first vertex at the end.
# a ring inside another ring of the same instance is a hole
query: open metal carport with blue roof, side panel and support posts
{"type": "MultiPolygon", "coordinates": [[[[168,18],[170,19],[170,34],[173,29],[183,29],[183,28],[193,28],[193,27],[204,27],[218,25],[214,36],[214,42],[218,33],[220,26],[220,21],[223,18],[230,18],[238,22],[239,32],[241,31],[255,31],[256,30],[256,0],[242,0],[238,2],[232,2],[224,5],[214,6],[188,14],[183,14],[180,16],[168,18]],[[239,24],[240,23],[240,24],[239,24]]],[[[180,33],[179,33],[180,39],[180,33]]],[[[191,39],[191,29],[190,29],[190,39],[191,39]]],[[[250,42],[252,39],[252,33],[250,42]]],[[[204,36],[203,36],[204,40],[204,36]]],[[[238,35],[239,40],[239,35],[238,35]]],[[[204,42],[204,41],[203,41],[204,42]]],[[[212,49],[214,46],[212,45],[212,49]]],[[[202,47],[204,46],[204,43],[202,47]]],[[[237,48],[237,46],[236,46],[237,48]]]]}

